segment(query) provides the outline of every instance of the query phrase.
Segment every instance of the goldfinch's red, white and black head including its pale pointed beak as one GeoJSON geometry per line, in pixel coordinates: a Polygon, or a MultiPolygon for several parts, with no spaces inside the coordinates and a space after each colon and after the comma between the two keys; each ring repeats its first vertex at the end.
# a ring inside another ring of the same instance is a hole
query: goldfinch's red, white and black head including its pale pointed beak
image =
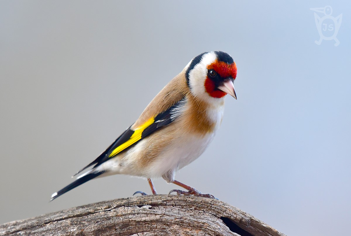
{"type": "Polygon", "coordinates": [[[194,57],[186,66],[185,75],[191,93],[198,98],[213,100],[229,93],[237,99],[233,84],[237,66],[223,51],[210,51],[194,57]]]}

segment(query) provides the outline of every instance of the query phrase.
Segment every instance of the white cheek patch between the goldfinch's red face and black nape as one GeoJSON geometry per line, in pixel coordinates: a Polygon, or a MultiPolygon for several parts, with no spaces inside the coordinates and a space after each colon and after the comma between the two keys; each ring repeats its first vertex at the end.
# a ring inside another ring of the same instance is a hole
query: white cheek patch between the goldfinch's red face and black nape
{"type": "Polygon", "coordinates": [[[189,71],[190,91],[195,96],[208,98],[205,90],[205,79],[207,77],[207,65],[212,64],[217,59],[216,53],[210,51],[201,57],[201,61],[189,71]]]}

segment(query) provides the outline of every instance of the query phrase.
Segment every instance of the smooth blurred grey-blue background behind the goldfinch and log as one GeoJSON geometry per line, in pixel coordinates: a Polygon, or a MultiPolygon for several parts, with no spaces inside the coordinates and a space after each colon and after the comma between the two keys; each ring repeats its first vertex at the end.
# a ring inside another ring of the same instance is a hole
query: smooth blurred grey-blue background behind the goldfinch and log
{"type": "Polygon", "coordinates": [[[49,202],[193,57],[222,50],[238,100],[176,179],[286,235],[348,234],[350,13],[346,1],[1,1],[0,223],[150,193],[115,175],[49,202]],[[327,5],[343,14],[337,47],[314,42],[310,8],[327,5]]]}

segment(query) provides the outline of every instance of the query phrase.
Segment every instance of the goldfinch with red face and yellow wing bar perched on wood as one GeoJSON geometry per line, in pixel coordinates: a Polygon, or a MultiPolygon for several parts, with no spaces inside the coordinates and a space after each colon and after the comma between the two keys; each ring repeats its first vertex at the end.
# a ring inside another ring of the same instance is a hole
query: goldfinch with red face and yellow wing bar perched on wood
{"type": "Polygon", "coordinates": [[[236,76],[236,63],[223,51],[194,57],[152,99],[135,123],[73,175],[72,178],[80,174],[75,181],[53,193],[51,201],[91,179],[114,174],[146,179],[153,194],[157,191],[152,179],[162,177],[187,190],[174,189],[169,194],[214,198],[174,177],[213,140],[223,119],[225,96],[237,99],[233,84],[236,76]]]}

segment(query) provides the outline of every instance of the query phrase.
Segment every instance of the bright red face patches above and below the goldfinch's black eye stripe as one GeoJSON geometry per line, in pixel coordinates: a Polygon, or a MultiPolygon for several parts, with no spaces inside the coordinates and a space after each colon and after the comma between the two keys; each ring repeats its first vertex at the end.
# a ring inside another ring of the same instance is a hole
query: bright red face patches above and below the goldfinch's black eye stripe
{"type": "MultiPolygon", "coordinates": [[[[235,62],[233,62],[232,64],[228,64],[216,60],[212,64],[208,65],[207,69],[216,71],[218,75],[224,79],[228,77],[232,77],[233,79],[235,79],[237,77],[237,65],[235,64],[235,62]]],[[[208,76],[205,80],[205,89],[206,92],[214,98],[221,98],[227,95],[226,92],[217,89],[216,83],[208,76]]]]}

